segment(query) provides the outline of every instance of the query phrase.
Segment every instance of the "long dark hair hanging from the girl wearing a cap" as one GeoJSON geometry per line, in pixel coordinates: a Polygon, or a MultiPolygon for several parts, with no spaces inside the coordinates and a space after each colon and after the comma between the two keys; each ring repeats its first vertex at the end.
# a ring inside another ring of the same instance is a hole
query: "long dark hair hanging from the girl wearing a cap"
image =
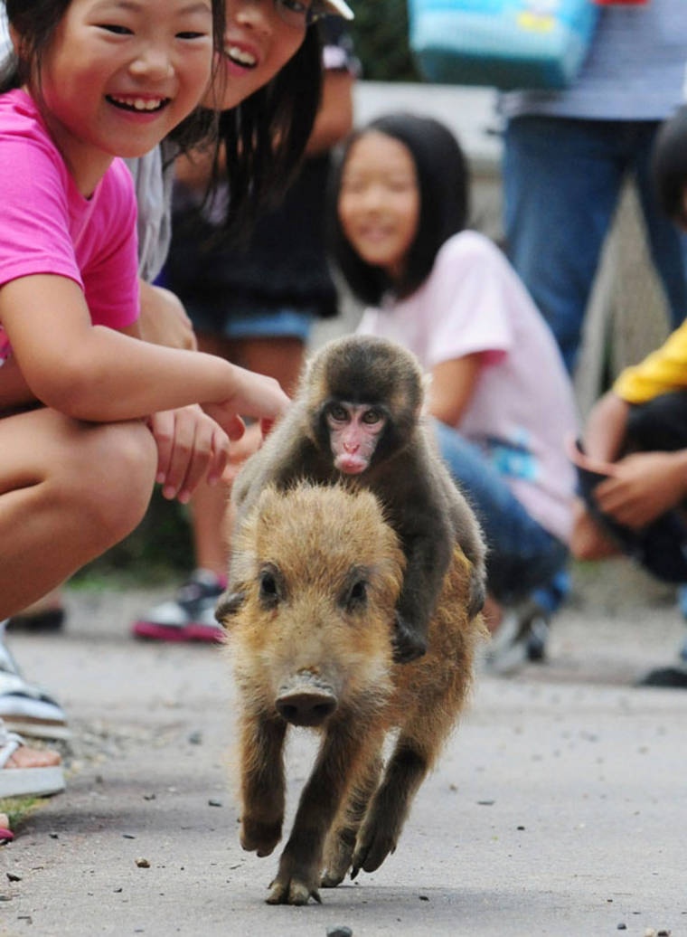
{"type": "Polygon", "coordinates": [[[271,82],[220,114],[212,189],[226,178],[230,198],[222,234],[229,241],[246,240],[256,217],[278,204],[293,181],[313,130],[322,82],[322,37],[314,24],[271,82]]]}

